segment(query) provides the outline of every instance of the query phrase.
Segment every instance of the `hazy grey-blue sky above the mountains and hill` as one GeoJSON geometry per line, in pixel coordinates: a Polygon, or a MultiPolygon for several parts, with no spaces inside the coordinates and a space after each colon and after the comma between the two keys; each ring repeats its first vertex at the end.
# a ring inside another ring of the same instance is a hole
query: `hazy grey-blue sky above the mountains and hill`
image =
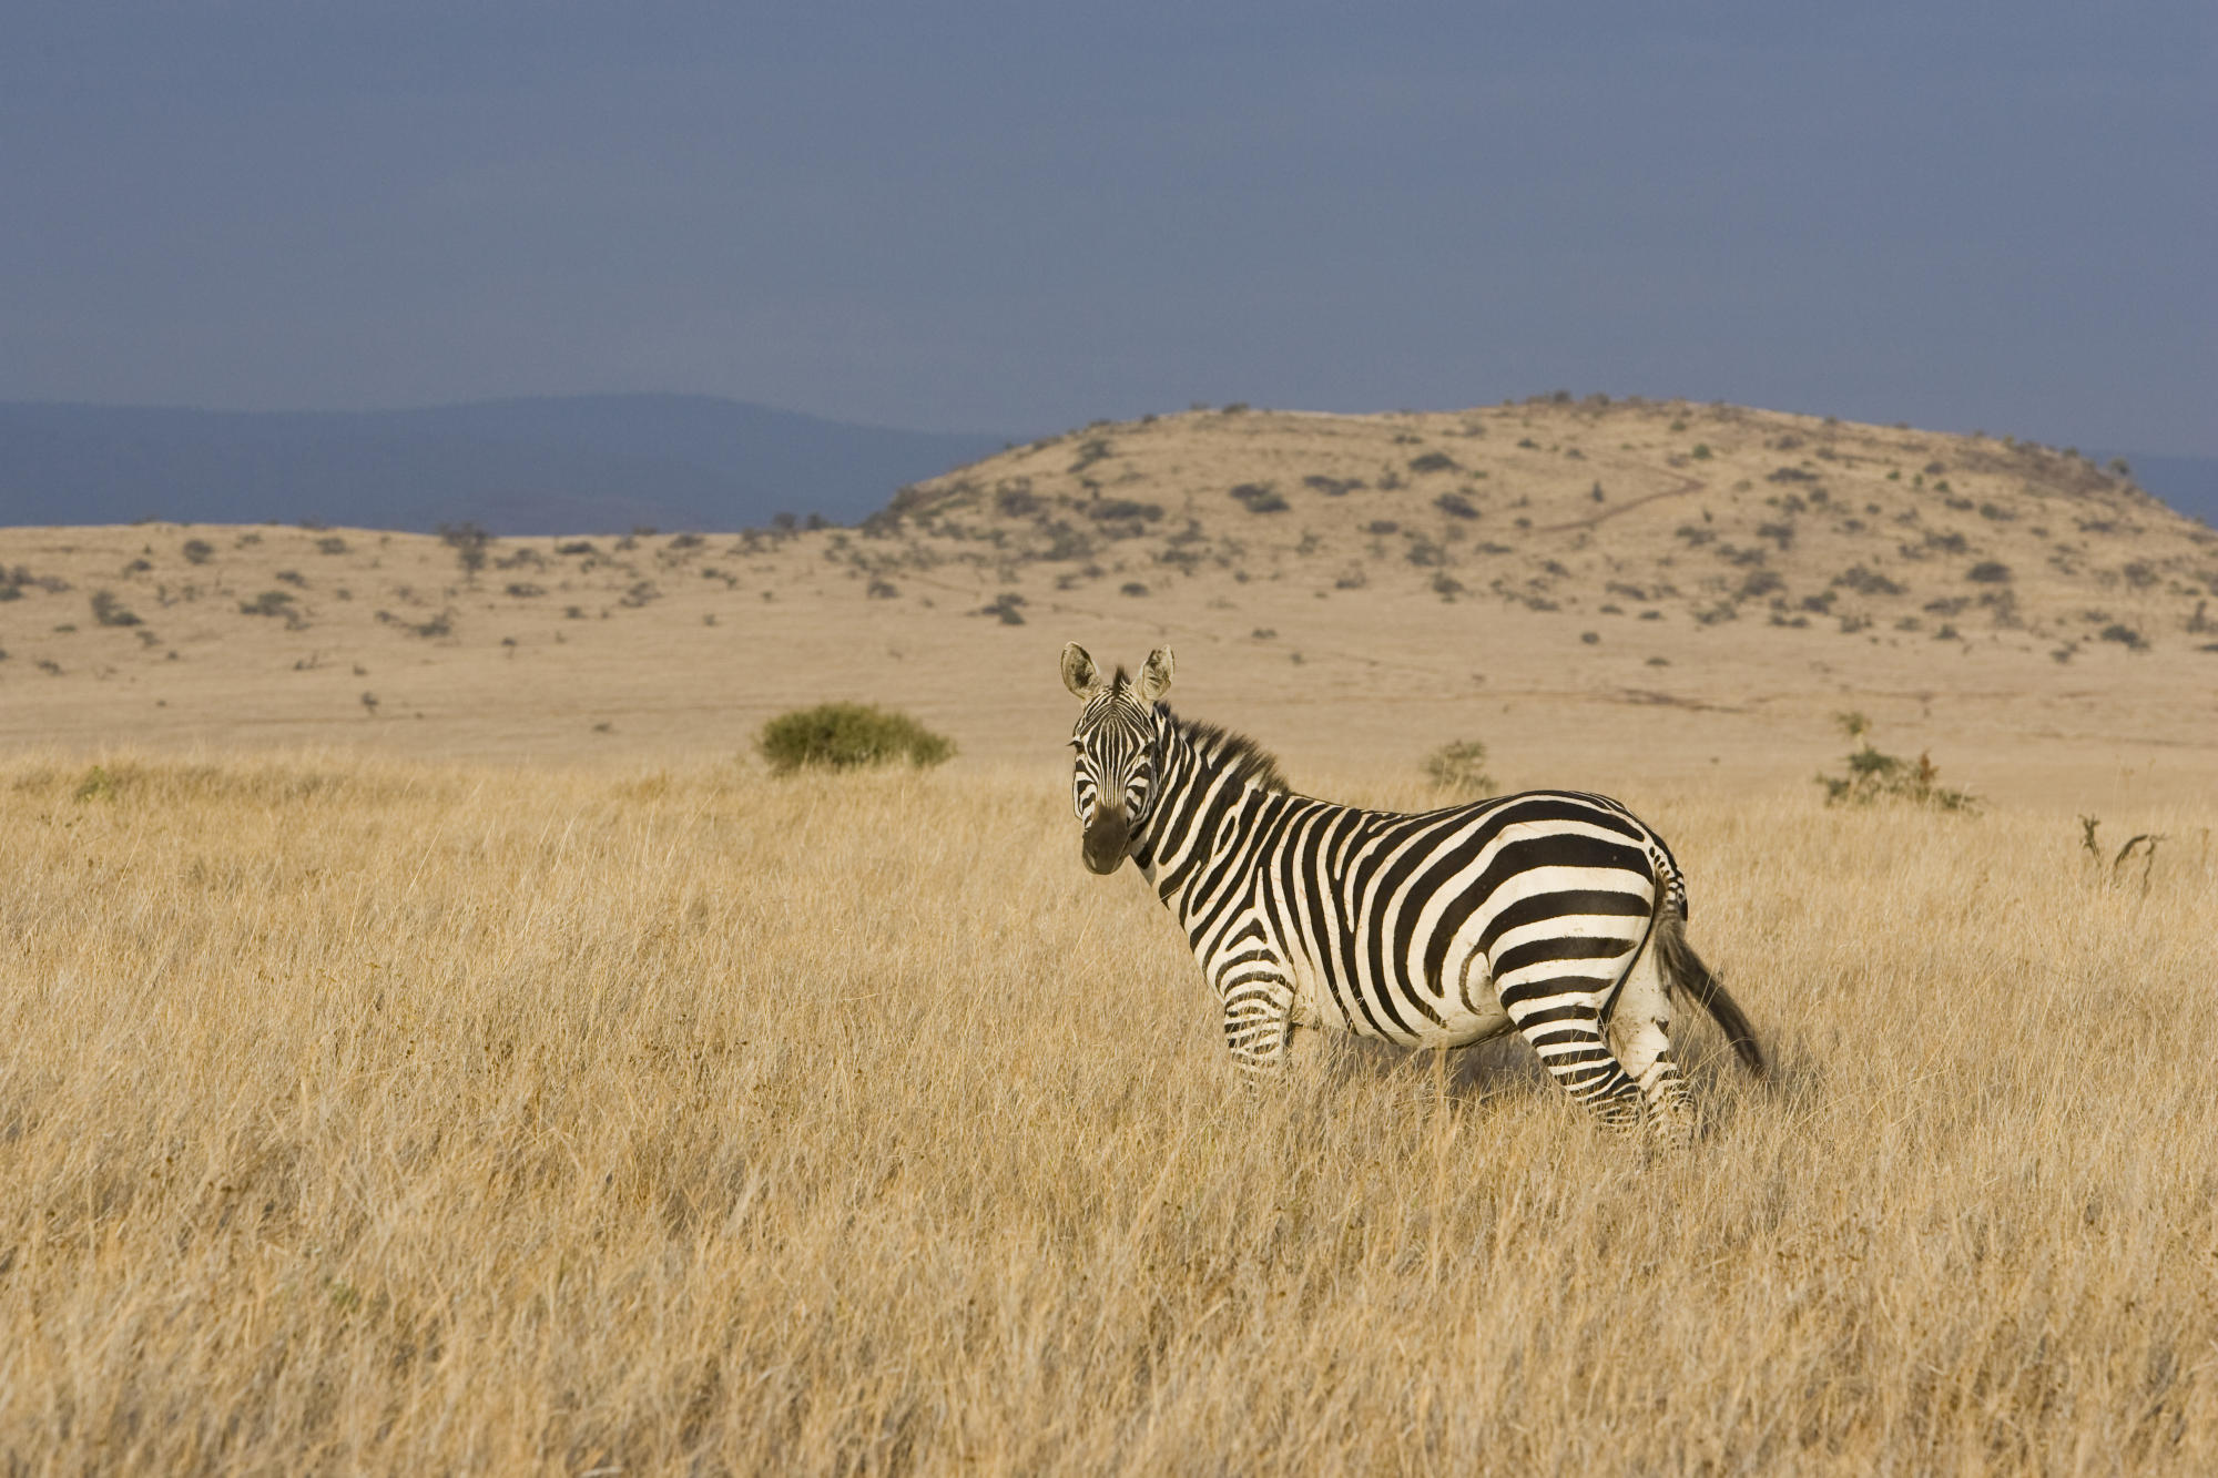
{"type": "Polygon", "coordinates": [[[11,4],[0,399],[2218,453],[2202,4],[11,4]]]}

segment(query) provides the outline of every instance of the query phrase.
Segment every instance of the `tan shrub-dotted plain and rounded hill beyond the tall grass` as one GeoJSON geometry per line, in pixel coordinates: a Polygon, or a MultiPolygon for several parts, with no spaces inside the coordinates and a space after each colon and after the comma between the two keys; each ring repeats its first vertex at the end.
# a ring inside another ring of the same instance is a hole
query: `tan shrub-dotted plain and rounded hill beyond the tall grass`
{"type": "MultiPolygon", "coordinates": [[[[0,743],[730,755],[827,697],[1060,763],[1065,639],[1317,766],[2218,783],[2218,535],[2025,444],[1688,404],[1096,424],[854,530],[0,530],[0,743]],[[472,568],[475,561],[475,568],[472,568]]],[[[2063,786],[2063,790],[2058,790],[2063,786]]]]}

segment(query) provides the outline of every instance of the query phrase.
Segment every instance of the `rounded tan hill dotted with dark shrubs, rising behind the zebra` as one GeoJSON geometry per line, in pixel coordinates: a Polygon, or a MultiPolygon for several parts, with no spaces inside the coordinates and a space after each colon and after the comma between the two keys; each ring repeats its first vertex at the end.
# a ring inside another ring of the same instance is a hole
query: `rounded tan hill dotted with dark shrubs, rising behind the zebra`
{"type": "Polygon", "coordinates": [[[1739,406],[1096,424],[907,488],[881,524],[1065,566],[1067,590],[1220,573],[1635,619],[2218,641],[2218,535],[2120,475],[1739,406]]]}

